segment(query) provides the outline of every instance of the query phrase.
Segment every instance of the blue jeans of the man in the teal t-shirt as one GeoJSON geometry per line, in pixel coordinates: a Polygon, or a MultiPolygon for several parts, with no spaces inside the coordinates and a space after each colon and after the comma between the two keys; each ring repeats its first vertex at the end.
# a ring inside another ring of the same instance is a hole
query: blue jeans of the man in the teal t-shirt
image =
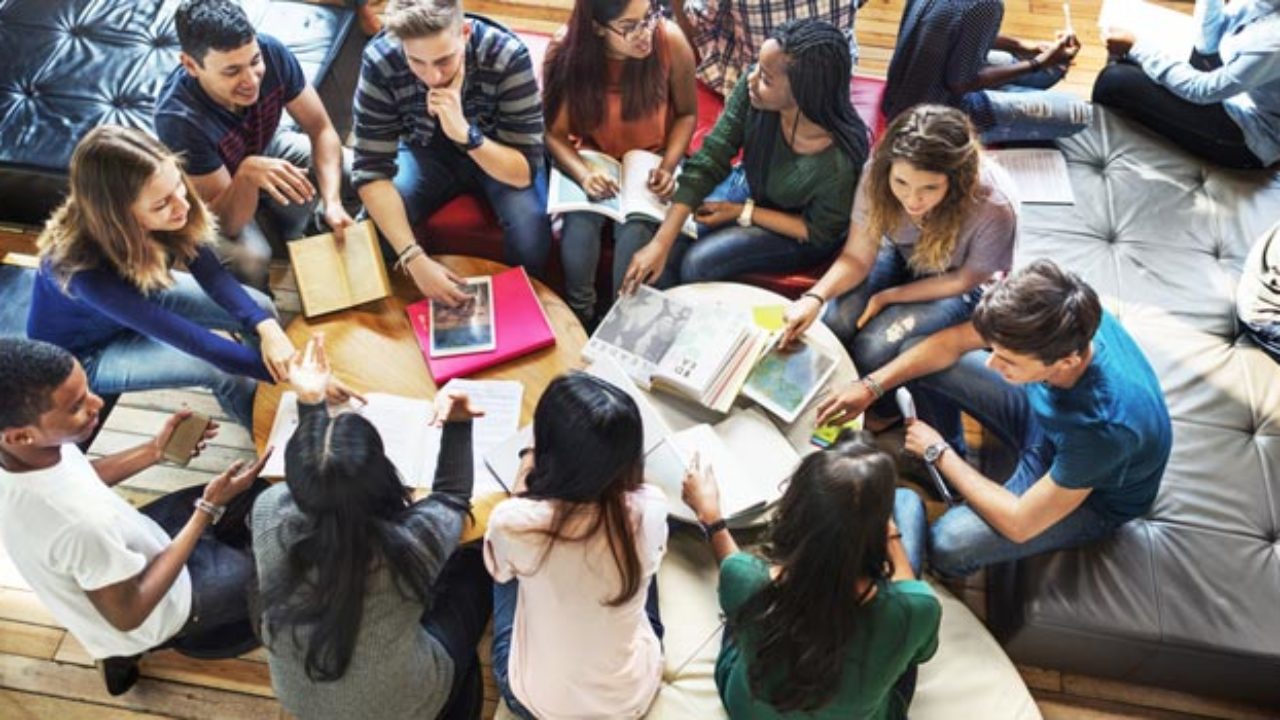
{"type": "MultiPolygon", "coordinates": [[[[1053,446],[1036,420],[1025,391],[987,368],[989,352],[975,350],[951,368],[910,384],[920,419],[934,425],[952,447],[963,433],[959,414],[965,411],[1018,454],[1018,466],[1005,489],[1021,496],[1048,473],[1053,446]],[[952,421],[950,427],[938,427],[952,421]]],[[[961,577],[984,565],[1062,550],[1110,536],[1120,524],[1088,502],[1036,536],[1015,543],[1000,534],[968,505],[947,510],[929,532],[929,565],[941,575],[961,577]]]]}

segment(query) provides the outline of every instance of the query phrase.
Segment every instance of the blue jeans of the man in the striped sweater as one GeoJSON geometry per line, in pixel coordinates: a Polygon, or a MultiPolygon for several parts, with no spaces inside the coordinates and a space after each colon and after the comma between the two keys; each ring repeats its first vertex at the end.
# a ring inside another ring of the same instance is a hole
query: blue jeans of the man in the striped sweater
{"type": "Polygon", "coordinates": [[[393,182],[404,200],[410,225],[430,217],[458,193],[484,195],[502,225],[503,261],[524,265],[535,277],[543,277],[552,249],[545,168],[539,167],[527,187],[512,187],[489,177],[443,132],[435,133],[426,147],[401,143],[396,161],[399,169],[393,182]]]}

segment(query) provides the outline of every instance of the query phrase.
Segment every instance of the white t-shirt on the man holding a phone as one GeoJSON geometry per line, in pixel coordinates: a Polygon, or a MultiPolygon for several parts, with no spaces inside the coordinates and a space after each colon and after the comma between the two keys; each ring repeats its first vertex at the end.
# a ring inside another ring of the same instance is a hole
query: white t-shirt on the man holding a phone
{"type": "Polygon", "coordinates": [[[122,633],[86,591],[132,578],[170,538],[102,483],[74,445],[45,470],[0,469],[0,539],[45,607],[93,657],[137,655],[177,634],[191,615],[191,575],[183,568],[141,626],[122,633]]]}

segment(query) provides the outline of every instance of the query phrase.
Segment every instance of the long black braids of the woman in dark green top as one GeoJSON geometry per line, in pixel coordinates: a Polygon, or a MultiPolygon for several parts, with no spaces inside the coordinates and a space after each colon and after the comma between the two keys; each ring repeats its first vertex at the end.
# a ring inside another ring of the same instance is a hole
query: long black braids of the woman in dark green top
{"type": "MultiPolygon", "coordinates": [[[[861,170],[869,140],[867,123],[849,100],[849,77],[854,69],[849,38],[836,26],[813,18],[785,22],[769,37],[787,54],[787,82],[800,111],[829,132],[836,147],[861,170]]],[[[768,186],[780,122],[774,111],[753,108],[748,113],[753,142],[744,147],[742,163],[755,193],[763,193],[768,186]]]]}

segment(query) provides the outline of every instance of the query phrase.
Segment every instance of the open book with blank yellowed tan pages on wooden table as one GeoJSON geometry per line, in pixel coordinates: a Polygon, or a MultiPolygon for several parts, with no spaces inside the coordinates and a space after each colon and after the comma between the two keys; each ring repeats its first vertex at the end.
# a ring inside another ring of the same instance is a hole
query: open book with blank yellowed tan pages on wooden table
{"type": "Polygon", "coordinates": [[[288,243],[289,263],[307,318],[381,300],[392,293],[372,220],[347,228],[340,246],[333,233],[288,243]]]}

